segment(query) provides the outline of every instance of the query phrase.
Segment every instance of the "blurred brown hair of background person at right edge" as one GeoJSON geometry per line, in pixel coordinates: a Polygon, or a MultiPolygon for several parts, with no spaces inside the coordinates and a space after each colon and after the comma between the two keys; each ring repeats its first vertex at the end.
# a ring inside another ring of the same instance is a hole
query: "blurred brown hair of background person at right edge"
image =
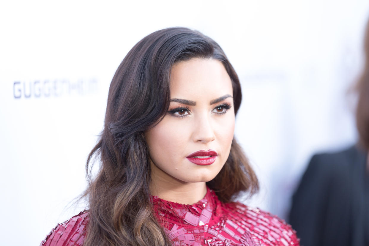
{"type": "Polygon", "coordinates": [[[356,127],[361,145],[369,150],[369,22],[366,24],[364,49],[365,65],[356,87],[359,96],[356,107],[356,127]]]}

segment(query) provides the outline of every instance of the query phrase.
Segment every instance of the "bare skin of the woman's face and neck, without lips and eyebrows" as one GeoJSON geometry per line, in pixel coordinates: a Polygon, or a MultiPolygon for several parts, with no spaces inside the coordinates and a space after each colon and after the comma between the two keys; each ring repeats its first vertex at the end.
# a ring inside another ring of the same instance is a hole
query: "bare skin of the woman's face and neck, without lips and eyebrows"
{"type": "Polygon", "coordinates": [[[195,58],[172,67],[169,111],[180,107],[188,110],[168,112],[145,134],[152,160],[152,195],[182,204],[194,204],[204,197],[205,182],[219,173],[230,153],[235,124],[232,92],[231,79],[218,60],[195,58]],[[221,97],[227,98],[211,104],[221,97]],[[176,99],[196,105],[172,101],[176,99]],[[209,149],[218,155],[208,166],[186,158],[209,149]]]}

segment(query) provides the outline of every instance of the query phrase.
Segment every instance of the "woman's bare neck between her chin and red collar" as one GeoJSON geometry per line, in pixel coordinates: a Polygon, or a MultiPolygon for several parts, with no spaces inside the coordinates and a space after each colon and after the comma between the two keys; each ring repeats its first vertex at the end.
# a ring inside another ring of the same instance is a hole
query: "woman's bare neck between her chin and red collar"
{"type": "Polygon", "coordinates": [[[181,204],[194,204],[206,195],[206,182],[188,183],[169,176],[151,165],[151,195],[181,204]]]}

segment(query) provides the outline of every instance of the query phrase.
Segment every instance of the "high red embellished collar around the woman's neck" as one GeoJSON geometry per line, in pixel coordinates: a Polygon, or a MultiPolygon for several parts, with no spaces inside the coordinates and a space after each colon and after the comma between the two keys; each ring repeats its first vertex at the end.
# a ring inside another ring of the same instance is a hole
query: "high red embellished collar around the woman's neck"
{"type": "Polygon", "coordinates": [[[189,205],[163,200],[151,196],[154,214],[159,223],[177,224],[182,226],[203,226],[208,224],[212,217],[221,215],[221,202],[213,190],[207,188],[203,199],[189,205]]]}

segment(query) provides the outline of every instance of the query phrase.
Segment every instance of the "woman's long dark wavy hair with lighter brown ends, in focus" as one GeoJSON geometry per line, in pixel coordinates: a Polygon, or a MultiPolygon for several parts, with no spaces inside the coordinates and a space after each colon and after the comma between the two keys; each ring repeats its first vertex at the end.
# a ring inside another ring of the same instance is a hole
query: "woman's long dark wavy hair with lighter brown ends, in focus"
{"type": "MultiPolygon", "coordinates": [[[[173,64],[191,58],[220,60],[232,81],[235,114],[241,104],[238,76],[212,39],[187,28],[149,34],[125,56],[110,84],[104,129],[91,151],[86,173],[89,226],[84,245],[169,245],[153,216],[150,202],[150,157],[144,133],[169,108],[173,64]],[[92,177],[92,160],[100,162],[92,177]]],[[[258,180],[233,139],[220,173],[207,185],[229,202],[241,191],[254,194],[258,180]]]]}

